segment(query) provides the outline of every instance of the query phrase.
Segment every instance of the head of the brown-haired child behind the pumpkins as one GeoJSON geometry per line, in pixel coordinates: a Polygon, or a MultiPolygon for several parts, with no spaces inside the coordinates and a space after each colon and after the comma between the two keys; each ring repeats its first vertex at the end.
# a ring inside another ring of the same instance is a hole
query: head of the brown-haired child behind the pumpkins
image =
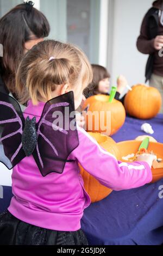
{"type": "Polygon", "coordinates": [[[92,65],[93,69],[93,81],[87,87],[86,94],[90,93],[90,95],[97,95],[97,94],[107,94],[109,92],[109,78],[110,75],[108,71],[100,65],[92,65]]]}

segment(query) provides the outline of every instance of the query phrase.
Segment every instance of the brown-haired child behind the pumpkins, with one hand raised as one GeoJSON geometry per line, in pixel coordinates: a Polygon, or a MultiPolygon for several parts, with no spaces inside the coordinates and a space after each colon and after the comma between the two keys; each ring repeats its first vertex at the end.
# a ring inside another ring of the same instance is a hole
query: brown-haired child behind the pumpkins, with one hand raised
{"type": "MultiPolygon", "coordinates": [[[[104,94],[109,95],[110,88],[110,74],[109,72],[100,65],[92,65],[93,69],[93,81],[92,83],[84,90],[85,97],[90,97],[92,95],[104,94]]],[[[120,76],[117,79],[117,92],[115,95],[115,99],[119,100],[123,103],[124,97],[120,99],[120,95],[123,93],[126,88],[128,82],[124,76],[120,76]]]]}

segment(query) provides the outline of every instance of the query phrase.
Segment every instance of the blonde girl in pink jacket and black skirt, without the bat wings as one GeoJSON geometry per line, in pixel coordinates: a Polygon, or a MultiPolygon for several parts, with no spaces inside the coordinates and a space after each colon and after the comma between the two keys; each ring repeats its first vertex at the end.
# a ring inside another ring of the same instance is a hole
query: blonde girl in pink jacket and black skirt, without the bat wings
{"type": "MultiPolygon", "coordinates": [[[[53,40],[40,42],[26,54],[17,72],[20,102],[29,100],[24,117],[28,120],[35,117],[38,122],[48,100],[64,99],[71,91],[78,108],[83,89],[91,80],[91,65],[79,48],[53,40]]],[[[1,245],[87,245],[80,230],[80,220],[84,209],[90,205],[90,197],[84,190],[78,163],[112,190],[127,190],[151,182],[152,155],[143,155],[143,162],[132,164],[117,161],[80,127],[67,138],[70,140],[68,147],[73,144],[76,132],[78,147],[68,156],[63,172],[51,173],[49,169],[49,174],[42,176],[33,155],[24,157],[14,167],[14,197],[8,211],[0,217],[1,245]]],[[[62,133],[53,133],[57,139],[56,148],[63,153],[62,133]]],[[[48,159],[48,155],[46,157],[48,159]]],[[[50,160],[53,163],[53,157],[50,160]]],[[[59,162],[55,161],[52,168],[58,166],[59,162]]]]}

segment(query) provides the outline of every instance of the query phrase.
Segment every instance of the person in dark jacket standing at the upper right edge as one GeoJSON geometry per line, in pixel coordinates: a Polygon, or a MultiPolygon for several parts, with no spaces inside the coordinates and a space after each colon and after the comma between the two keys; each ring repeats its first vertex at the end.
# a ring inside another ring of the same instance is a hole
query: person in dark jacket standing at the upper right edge
{"type": "MultiPolygon", "coordinates": [[[[156,87],[163,96],[163,58],[159,51],[163,47],[163,0],[153,2],[153,7],[145,15],[140,36],[137,39],[137,49],[149,54],[146,66],[146,82],[156,87]]],[[[162,106],[163,113],[163,106],[162,106]]]]}

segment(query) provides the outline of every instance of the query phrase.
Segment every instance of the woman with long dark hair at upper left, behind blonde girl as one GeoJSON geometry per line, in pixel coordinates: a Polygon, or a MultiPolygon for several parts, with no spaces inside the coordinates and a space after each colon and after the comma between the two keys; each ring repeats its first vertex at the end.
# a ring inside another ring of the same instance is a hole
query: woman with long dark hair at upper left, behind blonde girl
{"type": "Polygon", "coordinates": [[[32,1],[19,4],[0,19],[0,92],[15,92],[15,75],[23,55],[48,36],[49,23],[32,1]]]}

